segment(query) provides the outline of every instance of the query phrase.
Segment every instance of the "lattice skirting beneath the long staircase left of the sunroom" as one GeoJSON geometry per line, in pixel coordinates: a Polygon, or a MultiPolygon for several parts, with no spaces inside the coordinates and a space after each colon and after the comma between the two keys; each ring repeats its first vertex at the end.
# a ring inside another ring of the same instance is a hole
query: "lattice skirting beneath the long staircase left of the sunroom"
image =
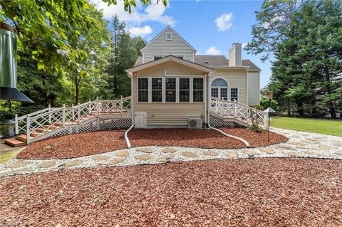
{"type": "Polygon", "coordinates": [[[94,120],[93,122],[90,122],[86,125],[81,125],[78,127],[68,127],[65,130],[62,130],[60,132],[56,132],[56,134],[52,134],[48,138],[51,137],[59,137],[66,134],[76,134],[78,132],[94,132],[98,130],[118,130],[118,129],[128,129],[132,125],[132,119],[130,118],[120,118],[120,119],[113,119],[113,118],[102,118],[99,120],[100,125],[98,128],[97,120],[94,120]]]}

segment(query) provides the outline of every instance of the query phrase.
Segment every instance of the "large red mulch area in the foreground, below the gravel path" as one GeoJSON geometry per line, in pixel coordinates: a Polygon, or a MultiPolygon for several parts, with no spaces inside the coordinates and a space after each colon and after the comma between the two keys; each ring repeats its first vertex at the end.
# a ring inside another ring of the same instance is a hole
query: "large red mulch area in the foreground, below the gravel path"
{"type": "Polygon", "coordinates": [[[342,226],[342,162],[236,159],[0,180],[0,226],[342,226]]]}

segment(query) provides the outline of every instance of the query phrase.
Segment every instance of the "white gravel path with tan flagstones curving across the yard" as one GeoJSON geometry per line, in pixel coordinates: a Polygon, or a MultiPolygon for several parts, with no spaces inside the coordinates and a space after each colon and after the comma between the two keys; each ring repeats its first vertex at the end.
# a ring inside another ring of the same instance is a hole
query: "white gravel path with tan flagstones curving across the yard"
{"type": "Polygon", "coordinates": [[[71,159],[12,159],[10,162],[0,165],[0,176],[31,174],[51,170],[56,171],[59,169],[160,164],[165,162],[187,162],[207,159],[244,159],[260,157],[342,159],[341,137],[289,130],[273,130],[274,132],[286,135],[289,140],[281,144],[250,149],[202,149],[146,146],[120,149],[103,154],[71,159]]]}

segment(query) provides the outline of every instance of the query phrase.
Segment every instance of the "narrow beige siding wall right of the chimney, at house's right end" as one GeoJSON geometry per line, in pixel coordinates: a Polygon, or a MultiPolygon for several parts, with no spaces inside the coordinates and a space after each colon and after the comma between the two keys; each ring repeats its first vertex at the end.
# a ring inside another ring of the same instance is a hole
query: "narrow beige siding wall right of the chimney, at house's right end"
{"type": "Polygon", "coordinates": [[[248,72],[248,105],[260,105],[260,73],[248,72]]]}

